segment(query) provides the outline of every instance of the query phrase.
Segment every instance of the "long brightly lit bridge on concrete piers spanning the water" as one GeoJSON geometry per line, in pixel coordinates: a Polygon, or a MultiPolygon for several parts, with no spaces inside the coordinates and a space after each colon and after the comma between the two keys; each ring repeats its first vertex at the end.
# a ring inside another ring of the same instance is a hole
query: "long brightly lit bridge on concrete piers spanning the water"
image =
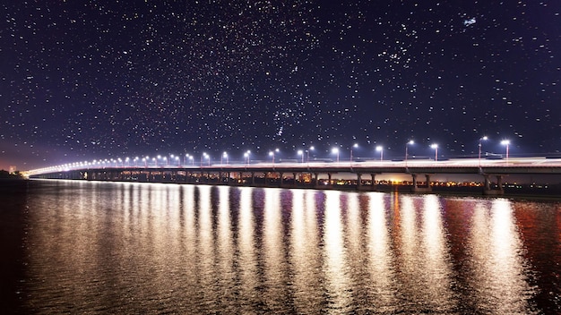
{"type": "Polygon", "coordinates": [[[410,175],[411,192],[431,192],[431,175],[480,175],[483,193],[504,193],[506,175],[561,175],[561,158],[450,160],[410,159],[405,161],[347,161],[289,163],[232,163],[171,166],[130,166],[74,164],[53,166],[26,172],[31,178],[74,179],[88,181],[207,183],[287,188],[333,188],[349,175],[358,191],[377,191],[375,176],[382,174],[410,175]],[[320,177],[326,176],[326,179],[320,177]],[[424,176],[424,181],[422,177],[424,176]],[[493,179],[496,184],[492,185],[493,179]]]}

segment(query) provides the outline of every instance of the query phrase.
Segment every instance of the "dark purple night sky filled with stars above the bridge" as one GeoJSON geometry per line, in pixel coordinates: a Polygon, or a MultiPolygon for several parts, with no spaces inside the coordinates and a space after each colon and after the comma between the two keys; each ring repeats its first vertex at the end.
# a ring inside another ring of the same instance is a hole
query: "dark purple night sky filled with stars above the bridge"
{"type": "Polygon", "coordinates": [[[2,1],[0,168],[559,152],[560,1],[350,3],[2,1]]]}

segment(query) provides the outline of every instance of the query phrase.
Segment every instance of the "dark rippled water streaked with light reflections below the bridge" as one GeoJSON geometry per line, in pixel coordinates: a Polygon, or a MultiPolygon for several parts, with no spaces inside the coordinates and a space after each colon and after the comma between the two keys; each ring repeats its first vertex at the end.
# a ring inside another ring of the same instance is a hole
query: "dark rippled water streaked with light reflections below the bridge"
{"type": "Polygon", "coordinates": [[[561,203],[4,184],[3,313],[561,312],[561,203]]]}

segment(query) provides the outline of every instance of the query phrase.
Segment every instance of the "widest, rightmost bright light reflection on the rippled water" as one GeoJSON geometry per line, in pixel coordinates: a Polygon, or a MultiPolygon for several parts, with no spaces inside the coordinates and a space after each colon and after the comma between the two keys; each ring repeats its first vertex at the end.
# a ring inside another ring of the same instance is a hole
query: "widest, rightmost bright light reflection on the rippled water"
{"type": "Polygon", "coordinates": [[[528,313],[533,290],[527,283],[510,201],[495,200],[490,208],[485,205],[478,204],[472,218],[472,307],[493,313],[528,313]]]}

